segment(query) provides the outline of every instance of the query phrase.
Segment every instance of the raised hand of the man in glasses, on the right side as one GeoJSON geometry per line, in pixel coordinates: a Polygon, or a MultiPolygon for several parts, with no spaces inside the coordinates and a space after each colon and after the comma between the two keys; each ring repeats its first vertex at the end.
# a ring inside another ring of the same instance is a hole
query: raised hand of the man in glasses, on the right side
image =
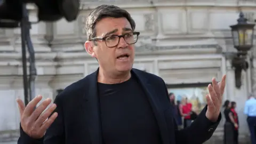
{"type": "Polygon", "coordinates": [[[222,76],[221,82],[217,83],[215,78],[212,78],[212,84],[208,85],[209,94],[206,95],[207,111],[206,117],[216,122],[220,115],[222,104],[222,96],[226,85],[226,75],[222,76]]]}

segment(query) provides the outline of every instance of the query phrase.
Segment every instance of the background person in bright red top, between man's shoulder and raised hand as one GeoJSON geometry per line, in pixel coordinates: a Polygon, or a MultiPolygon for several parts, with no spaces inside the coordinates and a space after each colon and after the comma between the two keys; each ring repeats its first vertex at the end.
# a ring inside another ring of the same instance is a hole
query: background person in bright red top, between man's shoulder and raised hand
{"type": "Polygon", "coordinates": [[[188,99],[183,99],[183,106],[182,106],[182,116],[184,116],[184,128],[188,127],[191,123],[191,117],[190,114],[192,112],[192,104],[188,102],[188,99]]]}

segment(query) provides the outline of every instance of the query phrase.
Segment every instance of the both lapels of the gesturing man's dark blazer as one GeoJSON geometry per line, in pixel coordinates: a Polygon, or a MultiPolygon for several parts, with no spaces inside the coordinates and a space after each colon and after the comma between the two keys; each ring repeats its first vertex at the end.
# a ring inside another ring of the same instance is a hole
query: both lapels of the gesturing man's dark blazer
{"type": "MultiPolygon", "coordinates": [[[[88,81],[88,84],[86,84],[87,86],[85,87],[86,90],[82,102],[82,108],[85,115],[85,123],[88,126],[92,144],[102,144],[100,105],[97,89],[98,72],[99,69],[91,75],[87,76],[85,79],[85,81],[88,81]]],[[[147,95],[149,103],[156,117],[163,143],[169,144],[169,135],[164,119],[164,114],[160,108],[161,103],[157,99],[157,93],[155,92],[154,87],[149,83],[146,77],[141,75],[141,71],[132,69],[132,73],[139,79],[142,89],[147,95]]]]}

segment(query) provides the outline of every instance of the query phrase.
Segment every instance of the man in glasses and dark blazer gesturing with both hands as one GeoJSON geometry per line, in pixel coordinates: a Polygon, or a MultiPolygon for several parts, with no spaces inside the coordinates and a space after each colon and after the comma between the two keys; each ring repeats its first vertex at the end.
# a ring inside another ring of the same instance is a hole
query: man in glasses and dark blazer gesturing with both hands
{"type": "Polygon", "coordinates": [[[212,79],[208,106],[188,129],[177,131],[163,79],[132,69],[139,35],[134,29],[127,11],[113,5],[96,7],[86,19],[85,49],[98,60],[99,69],[68,86],[44,113],[50,99],[35,110],[41,96],[26,108],[18,100],[18,143],[197,144],[208,140],[221,119],[226,76],[219,84],[212,79]]]}

